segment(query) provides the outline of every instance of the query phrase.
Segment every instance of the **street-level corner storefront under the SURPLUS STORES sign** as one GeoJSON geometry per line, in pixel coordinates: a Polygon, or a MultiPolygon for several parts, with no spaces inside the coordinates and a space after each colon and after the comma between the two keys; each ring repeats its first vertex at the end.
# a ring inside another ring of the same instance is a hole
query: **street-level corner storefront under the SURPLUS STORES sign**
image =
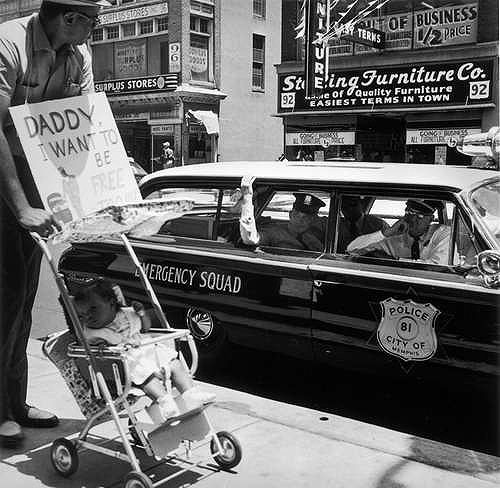
{"type": "Polygon", "coordinates": [[[164,142],[175,165],[217,160],[218,90],[178,86],[176,74],[96,83],[105,91],[127,152],[146,171],[162,169],[164,142]]]}

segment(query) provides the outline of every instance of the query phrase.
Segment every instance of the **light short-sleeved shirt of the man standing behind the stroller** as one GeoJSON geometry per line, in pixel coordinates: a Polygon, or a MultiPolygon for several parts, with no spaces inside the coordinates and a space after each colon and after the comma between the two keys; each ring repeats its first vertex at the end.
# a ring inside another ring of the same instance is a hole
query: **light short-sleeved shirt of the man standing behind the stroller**
{"type": "MultiPolygon", "coordinates": [[[[54,51],[38,14],[0,24],[0,97],[11,107],[94,91],[92,60],[85,45],[54,51]]],[[[10,116],[4,132],[11,151],[23,151],[10,116]]]]}

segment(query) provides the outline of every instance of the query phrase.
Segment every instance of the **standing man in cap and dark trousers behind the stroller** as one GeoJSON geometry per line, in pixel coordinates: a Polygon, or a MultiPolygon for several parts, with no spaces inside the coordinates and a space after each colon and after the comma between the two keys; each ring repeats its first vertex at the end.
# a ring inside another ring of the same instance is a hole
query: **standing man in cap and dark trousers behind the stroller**
{"type": "Polygon", "coordinates": [[[26,404],[26,347],[41,251],[29,232],[61,228],[43,210],[9,107],[94,91],[85,45],[107,0],[42,0],[38,13],[0,25],[0,445],[21,426],[53,427],[55,415],[26,404]]]}

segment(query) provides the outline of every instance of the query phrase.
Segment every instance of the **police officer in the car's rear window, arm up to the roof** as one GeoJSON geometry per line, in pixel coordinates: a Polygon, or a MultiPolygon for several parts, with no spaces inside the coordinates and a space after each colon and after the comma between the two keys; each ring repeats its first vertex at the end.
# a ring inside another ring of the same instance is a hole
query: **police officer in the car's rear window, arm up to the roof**
{"type": "Polygon", "coordinates": [[[294,193],[287,222],[274,222],[257,231],[253,215],[252,185],[243,178],[240,233],[249,245],[322,251],[326,219],[318,216],[325,203],[309,193],[294,193]]]}

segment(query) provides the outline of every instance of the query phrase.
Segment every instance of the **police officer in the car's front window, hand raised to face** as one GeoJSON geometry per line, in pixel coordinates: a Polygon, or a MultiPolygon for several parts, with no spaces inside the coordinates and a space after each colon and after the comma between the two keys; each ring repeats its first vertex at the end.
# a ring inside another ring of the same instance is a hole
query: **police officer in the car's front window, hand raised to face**
{"type": "Polygon", "coordinates": [[[450,228],[432,223],[436,202],[408,200],[403,218],[391,227],[359,236],[347,246],[350,254],[382,252],[388,257],[448,264],[450,228]]]}

